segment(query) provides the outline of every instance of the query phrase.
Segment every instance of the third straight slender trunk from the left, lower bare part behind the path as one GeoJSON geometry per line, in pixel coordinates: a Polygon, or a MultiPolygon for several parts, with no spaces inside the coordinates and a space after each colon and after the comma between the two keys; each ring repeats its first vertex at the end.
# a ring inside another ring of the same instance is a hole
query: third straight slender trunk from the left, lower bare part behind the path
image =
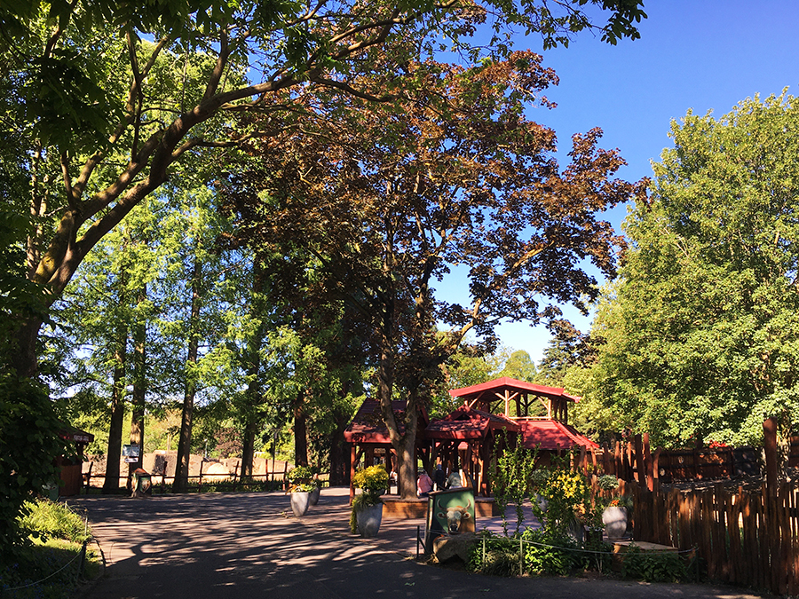
{"type": "Polygon", "coordinates": [[[197,364],[197,353],[200,347],[198,335],[200,319],[200,284],[202,264],[194,252],[194,270],[192,272],[192,310],[189,316],[189,343],[186,356],[186,381],[183,392],[183,411],[180,414],[180,436],[178,437],[178,461],[175,464],[175,490],[186,493],[188,489],[189,461],[192,454],[192,420],[194,416],[194,395],[197,391],[194,366],[197,364]]]}

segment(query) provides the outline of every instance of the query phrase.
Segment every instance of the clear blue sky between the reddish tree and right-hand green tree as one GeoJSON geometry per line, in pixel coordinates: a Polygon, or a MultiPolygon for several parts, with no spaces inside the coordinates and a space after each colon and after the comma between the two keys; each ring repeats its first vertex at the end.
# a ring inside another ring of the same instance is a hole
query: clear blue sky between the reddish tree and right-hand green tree
{"type": "MultiPolygon", "coordinates": [[[[799,4],[791,0],[757,3],[731,0],[645,1],[648,19],[641,39],[611,46],[589,33],[568,48],[543,52],[560,84],[547,91],[558,103],[551,111],[536,109],[533,118],[558,133],[561,162],[575,132],[592,127],[605,131],[603,147],[617,147],[629,166],[629,180],[652,175],[668,139],[669,122],[693,109],[717,117],[740,100],[765,98],[788,87],[799,94],[799,4]]],[[[542,51],[540,38],[517,39],[517,47],[542,51]]],[[[617,228],[626,214],[608,214],[617,228]]],[[[590,319],[566,311],[578,328],[590,319]]],[[[525,350],[535,361],[549,341],[543,327],[526,323],[499,328],[502,343],[525,350]]]]}

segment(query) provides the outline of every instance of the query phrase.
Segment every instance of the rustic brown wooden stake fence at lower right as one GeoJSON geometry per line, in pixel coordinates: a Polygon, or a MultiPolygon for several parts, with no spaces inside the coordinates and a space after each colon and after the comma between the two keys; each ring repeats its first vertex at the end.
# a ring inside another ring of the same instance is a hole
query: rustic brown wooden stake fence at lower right
{"type": "Polygon", "coordinates": [[[760,475],[760,450],[650,451],[647,436],[599,451],[583,450],[574,465],[621,479],[615,492],[633,498],[633,539],[695,549],[708,577],[726,583],[799,595],[799,485],[779,484],[779,461],[799,465],[799,437],[779,457],[776,423],[763,423],[766,477],[757,487],[730,483],[661,490],[661,482],[760,475]],[[792,463],[795,462],[795,463],[792,463]]]}

